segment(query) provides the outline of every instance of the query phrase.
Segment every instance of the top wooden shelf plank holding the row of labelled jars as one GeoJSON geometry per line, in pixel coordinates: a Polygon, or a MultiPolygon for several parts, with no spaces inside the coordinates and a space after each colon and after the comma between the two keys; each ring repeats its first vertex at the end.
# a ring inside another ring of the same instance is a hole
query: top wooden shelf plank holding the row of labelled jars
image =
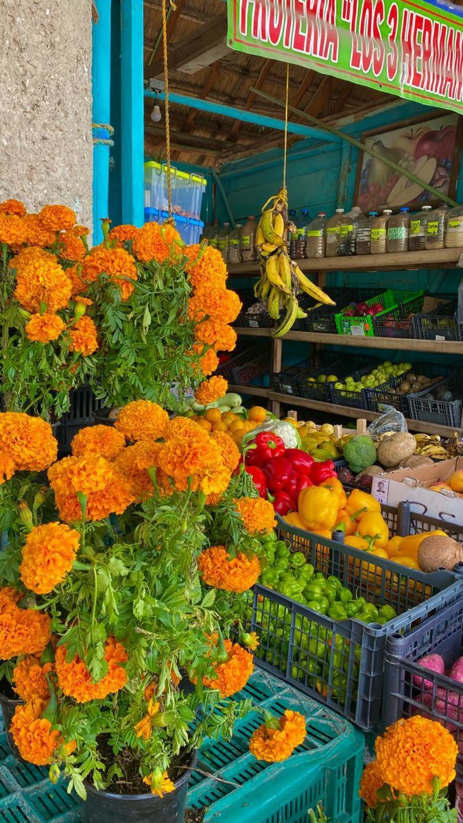
{"type": "MultiPolygon", "coordinates": [[[[298,260],[302,272],[387,272],[402,269],[455,268],[463,249],[436,249],[434,251],[401,252],[390,254],[362,254],[343,258],[298,260]]],[[[230,277],[258,277],[257,263],[239,263],[228,267],[230,277]]]]}

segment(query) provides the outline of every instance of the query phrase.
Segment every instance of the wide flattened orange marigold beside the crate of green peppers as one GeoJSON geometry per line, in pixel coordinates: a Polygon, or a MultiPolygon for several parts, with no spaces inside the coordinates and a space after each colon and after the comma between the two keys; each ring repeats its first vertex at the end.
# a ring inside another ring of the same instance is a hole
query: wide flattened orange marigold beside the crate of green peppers
{"type": "Polygon", "coordinates": [[[257,555],[248,557],[240,551],[236,557],[231,557],[225,546],[210,546],[202,551],[198,568],[204,583],[225,592],[247,592],[260,575],[257,555]]]}

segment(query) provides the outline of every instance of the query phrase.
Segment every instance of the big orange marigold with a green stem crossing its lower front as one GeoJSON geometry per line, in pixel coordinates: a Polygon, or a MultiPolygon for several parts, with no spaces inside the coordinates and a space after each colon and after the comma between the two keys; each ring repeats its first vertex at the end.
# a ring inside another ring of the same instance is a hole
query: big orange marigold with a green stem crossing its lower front
{"type": "Polygon", "coordinates": [[[129,484],[115,464],[97,455],[63,458],[49,468],[48,477],[59,517],[65,523],[82,518],[77,491],[87,498],[87,520],[122,514],[133,503],[129,484]]]}

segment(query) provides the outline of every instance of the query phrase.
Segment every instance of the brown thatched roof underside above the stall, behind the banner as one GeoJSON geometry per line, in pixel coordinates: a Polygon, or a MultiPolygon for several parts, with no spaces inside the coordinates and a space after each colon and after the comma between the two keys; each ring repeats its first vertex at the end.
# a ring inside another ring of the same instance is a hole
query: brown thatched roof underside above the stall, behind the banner
{"type": "MultiPolygon", "coordinates": [[[[216,18],[219,22],[220,18],[226,21],[226,17],[227,4],[223,0],[176,0],[176,10],[171,10],[168,20],[171,63],[175,63],[175,47],[180,40],[197,34],[202,26],[210,25],[210,21],[216,18]]],[[[145,77],[157,69],[157,77],[161,79],[161,0],[144,0],[144,24],[145,77]]],[[[172,67],[169,71],[170,91],[283,119],[283,109],[250,94],[249,89],[257,86],[284,100],[285,63],[227,49],[223,36],[222,45],[205,55],[203,65],[194,73],[172,67]]],[[[192,68],[195,66],[187,67],[187,71],[192,68]]],[[[391,101],[390,95],[367,86],[347,83],[298,66],[291,66],[289,78],[292,105],[328,122],[361,114],[391,101]]],[[[163,117],[160,123],[153,123],[150,118],[152,107],[153,100],[145,98],[145,151],[156,158],[165,157],[165,120],[163,117]]],[[[232,157],[249,156],[283,142],[283,133],[274,129],[176,104],[172,104],[170,110],[171,143],[175,147],[173,159],[177,161],[220,166],[232,157]]],[[[296,119],[296,116],[292,114],[290,119],[296,119]]],[[[292,136],[292,142],[294,139],[297,138],[292,136]]]]}

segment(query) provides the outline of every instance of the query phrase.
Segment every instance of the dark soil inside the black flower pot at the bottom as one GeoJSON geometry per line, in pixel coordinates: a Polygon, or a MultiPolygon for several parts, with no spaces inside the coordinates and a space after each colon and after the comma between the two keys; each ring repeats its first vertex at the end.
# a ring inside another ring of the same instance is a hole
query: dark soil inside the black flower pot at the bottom
{"type": "MultiPolygon", "coordinates": [[[[106,770],[110,770],[111,766],[118,765],[122,774],[115,774],[110,785],[105,788],[106,792],[114,794],[144,794],[149,793],[149,787],[143,783],[143,778],[140,774],[140,760],[141,752],[134,751],[125,747],[119,754],[115,755],[108,742],[106,735],[98,737],[98,751],[101,760],[106,766],[106,770]]],[[[191,762],[191,752],[180,751],[180,754],[171,760],[169,766],[169,777],[172,781],[178,780],[185,770],[189,767],[191,762]]],[[[199,818],[202,820],[202,818],[199,818]]],[[[194,823],[194,818],[192,820],[194,823]]]]}

